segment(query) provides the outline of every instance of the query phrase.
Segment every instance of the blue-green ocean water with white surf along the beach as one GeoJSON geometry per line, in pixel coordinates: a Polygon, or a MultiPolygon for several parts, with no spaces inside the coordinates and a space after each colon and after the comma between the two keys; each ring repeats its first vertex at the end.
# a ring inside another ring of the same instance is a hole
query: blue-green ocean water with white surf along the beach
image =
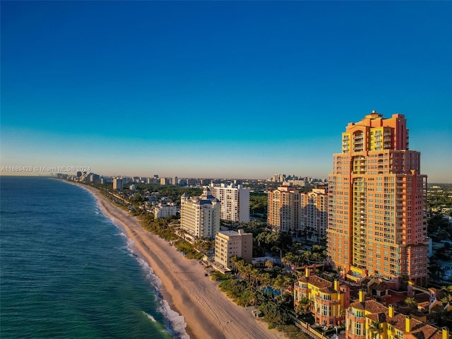
{"type": "Polygon", "coordinates": [[[0,338],[188,338],[88,191],[0,177],[0,194],[0,338]]]}

